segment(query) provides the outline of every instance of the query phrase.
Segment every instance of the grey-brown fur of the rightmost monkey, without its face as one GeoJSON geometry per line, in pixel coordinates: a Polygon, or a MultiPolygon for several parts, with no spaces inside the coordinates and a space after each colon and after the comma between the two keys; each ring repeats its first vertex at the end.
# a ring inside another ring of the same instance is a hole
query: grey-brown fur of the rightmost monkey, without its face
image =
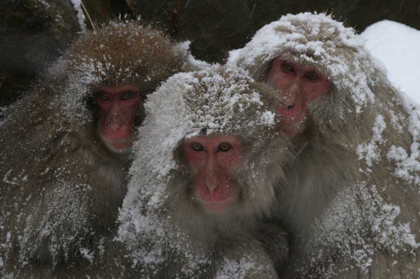
{"type": "MultiPolygon", "coordinates": [[[[291,52],[294,57],[292,59],[298,63],[308,63],[302,62],[301,57],[310,57],[313,59],[310,64],[317,65],[318,69],[329,76],[333,87],[328,96],[318,98],[310,105],[306,130],[291,138],[296,158],[286,169],[286,176],[283,176],[283,171],[279,175],[278,206],[274,218],[285,222],[294,238],[291,258],[281,276],[419,277],[418,249],[398,240],[400,232],[386,231],[388,224],[385,220],[375,229],[368,219],[372,214],[375,217],[387,216],[380,211],[383,209],[381,204],[398,206],[400,213],[392,219],[391,225],[408,223],[416,242],[420,241],[418,184],[396,177],[396,162],[387,158],[392,145],[402,147],[410,155],[413,133],[409,131],[408,124],[413,122],[409,121],[409,112],[415,112],[417,118],[414,117],[414,121],[418,121],[418,108],[404,107],[400,93],[390,85],[385,73],[370,54],[363,48],[360,53],[357,48],[345,46],[346,43],[340,41],[345,36],[340,37],[337,25],[331,25],[326,20],[320,25],[319,33],[316,33],[312,23],[299,19],[299,16],[286,16],[286,21],[291,25],[279,25],[276,30],[280,32],[278,36],[285,38],[293,29],[294,33],[302,36],[295,36],[296,39],[292,40],[302,45],[311,41],[325,45],[332,42],[337,47],[327,55],[342,58],[350,70],[344,76],[334,76],[330,72],[330,61],[325,59],[326,55],[317,56],[311,51],[296,52],[285,47],[270,53],[273,59],[291,52]],[[331,30],[337,33],[330,34],[331,30]],[[360,68],[353,68],[354,65],[360,68]],[[361,79],[352,78],[359,73],[366,78],[366,90],[373,92],[375,100],[361,105],[361,111],[357,113],[358,104],[352,94],[361,79]],[[393,115],[400,119],[395,122],[393,115]],[[373,159],[370,164],[365,155],[359,158],[357,148],[371,141],[372,129],[379,116],[383,117],[386,124],[381,133],[384,141],[375,142],[378,148],[376,153],[380,158],[373,159]],[[354,203],[347,203],[349,199],[354,199],[354,203]],[[339,211],[334,212],[336,209],[339,211]],[[331,219],[331,216],[337,219],[331,219]],[[378,233],[380,229],[385,230],[384,235],[378,233]],[[331,240],[330,236],[342,238],[331,240]],[[381,237],[387,237],[386,241],[389,242],[378,240],[381,237]],[[359,255],[352,258],[356,250],[366,251],[366,247],[371,247],[367,257],[359,255]],[[372,259],[371,264],[363,268],[361,265],[369,257],[372,259]]],[[[322,18],[325,15],[315,17],[322,18]]],[[[257,80],[264,81],[265,73],[270,68],[270,60],[264,55],[257,57],[254,64],[241,60],[237,63],[250,70],[257,80]]],[[[281,96],[281,92],[273,89],[265,92],[273,98],[281,96]]],[[[414,172],[416,174],[418,171],[414,172]]],[[[276,170],[271,175],[276,176],[276,170]]]]}

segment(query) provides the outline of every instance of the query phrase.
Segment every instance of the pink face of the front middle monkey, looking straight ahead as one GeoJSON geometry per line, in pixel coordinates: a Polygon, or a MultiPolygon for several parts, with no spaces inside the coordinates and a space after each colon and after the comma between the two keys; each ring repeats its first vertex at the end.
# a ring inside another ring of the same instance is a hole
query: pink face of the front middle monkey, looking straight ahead
{"type": "Polygon", "coordinates": [[[208,213],[226,212],[237,201],[239,187],[233,174],[241,162],[235,136],[197,136],[184,141],[183,152],[194,173],[193,195],[208,213]]]}

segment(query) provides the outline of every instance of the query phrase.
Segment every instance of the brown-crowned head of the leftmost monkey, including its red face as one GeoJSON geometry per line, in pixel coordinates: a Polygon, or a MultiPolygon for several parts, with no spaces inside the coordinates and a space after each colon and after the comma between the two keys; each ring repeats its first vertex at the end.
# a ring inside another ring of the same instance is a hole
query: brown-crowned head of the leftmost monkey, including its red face
{"type": "Polygon", "coordinates": [[[131,21],[83,34],[51,71],[60,81],[64,112],[96,123],[108,150],[127,153],[144,118],[146,95],[180,70],[188,44],[175,45],[156,29],[131,21]],[[81,108],[83,102],[88,106],[81,108]]]}

